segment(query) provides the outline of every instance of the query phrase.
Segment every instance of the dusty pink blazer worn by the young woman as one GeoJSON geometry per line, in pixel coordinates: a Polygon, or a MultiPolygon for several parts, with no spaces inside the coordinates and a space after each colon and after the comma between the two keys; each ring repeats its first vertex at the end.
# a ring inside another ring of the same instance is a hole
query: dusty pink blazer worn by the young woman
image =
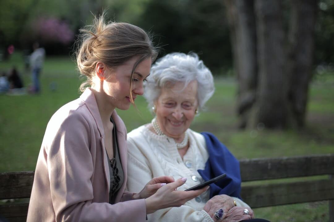
{"type": "Polygon", "coordinates": [[[145,200],[131,200],[127,182],[126,128],[116,111],[124,183],[109,204],[109,167],[103,124],[90,89],[56,111],[39,152],[27,221],[145,221],[145,200]]]}

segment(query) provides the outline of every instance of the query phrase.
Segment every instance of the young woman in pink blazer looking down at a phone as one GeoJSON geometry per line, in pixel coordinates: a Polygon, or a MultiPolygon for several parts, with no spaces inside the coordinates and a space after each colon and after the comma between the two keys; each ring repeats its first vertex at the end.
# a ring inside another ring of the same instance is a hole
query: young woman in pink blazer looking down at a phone
{"type": "Polygon", "coordinates": [[[87,81],[82,95],[47,124],[27,221],[145,221],[147,214],[181,206],[208,188],[177,191],[186,178],[160,176],[138,193],[125,192],[127,131],[115,108],[128,110],[143,94],[156,55],[137,26],[106,23],[102,15],[81,29],[77,66],[87,81]]]}

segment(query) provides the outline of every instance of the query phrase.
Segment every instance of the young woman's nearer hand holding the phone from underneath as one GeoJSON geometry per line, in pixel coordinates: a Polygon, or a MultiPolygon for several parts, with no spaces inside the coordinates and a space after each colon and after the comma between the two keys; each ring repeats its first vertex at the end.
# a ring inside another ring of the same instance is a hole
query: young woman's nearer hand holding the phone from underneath
{"type": "Polygon", "coordinates": [[[154,213],[159,209],[168,207],[180,207],[188,200],[191,200],[208,189],[208,186],[199,190],[179,191],[177,187],[186,182],[187,178],[183,177],[175,182],[168,183],[157,190],[155,194],[146,200],[146,213],[154,213]]]}

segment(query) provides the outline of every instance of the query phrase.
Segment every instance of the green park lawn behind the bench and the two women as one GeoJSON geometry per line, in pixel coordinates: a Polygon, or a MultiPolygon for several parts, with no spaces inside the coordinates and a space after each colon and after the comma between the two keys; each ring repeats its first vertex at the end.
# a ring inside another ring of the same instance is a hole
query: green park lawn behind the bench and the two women
{"type": "MultiPolygon", "coordinates": [[[[0,71],[16,65],[24,83],[30,73],[24,71],[20,54],[0,62],[0,71]]],[[[307,125],[300,131],[239,131],[235,115],[236,83],[231,78],[216,78],[216,91],[207,111],[195,117],[191,128],[213,132],[239,159],[334,153],[334,78],[333,74],[314,78],[310,87],[307,125]]],[[[80,81],[70,57],[48,57],[41,75],[40,95],[0,95],[0,172],[34,170],[46,124],[63,104],[79,96],[80,81]],[[50,84],[57,86],[50,90],[50,84]]],[[[152,119],[143,97],[136,99],[137,109],[118,110],[128,131],[152,119]]],[[[328,221],[328,202],[293,204],[255,209],[257,217],[271,221],[328,221]]]]}

